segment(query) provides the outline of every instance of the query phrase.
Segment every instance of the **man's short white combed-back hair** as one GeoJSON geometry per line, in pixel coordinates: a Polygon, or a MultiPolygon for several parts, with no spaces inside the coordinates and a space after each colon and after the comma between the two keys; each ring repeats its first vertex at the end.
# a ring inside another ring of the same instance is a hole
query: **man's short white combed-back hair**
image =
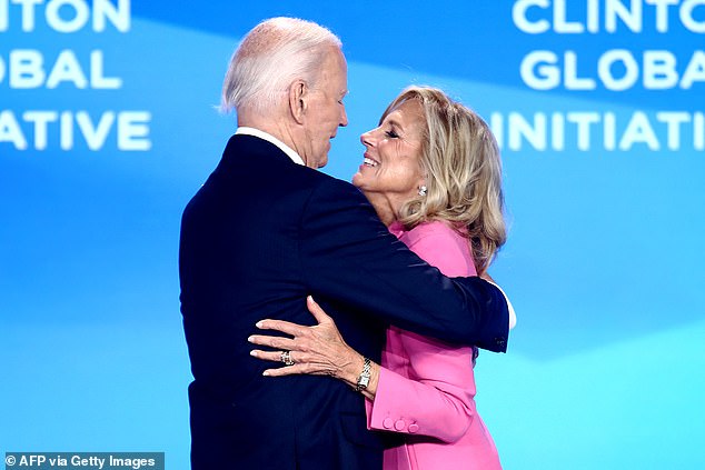
{"type": "Polygon", "coordinates": [[[220,109],[272,110],[290,84],[316,86],[326,49],[342,47],[328,29],[297,18],[271,18],[247,33],[230,59],[220,109]]]}

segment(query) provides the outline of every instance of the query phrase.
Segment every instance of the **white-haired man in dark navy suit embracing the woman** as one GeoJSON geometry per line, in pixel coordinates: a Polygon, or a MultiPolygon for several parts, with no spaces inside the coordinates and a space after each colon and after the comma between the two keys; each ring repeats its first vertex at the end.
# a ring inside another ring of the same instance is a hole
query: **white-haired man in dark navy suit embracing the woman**
{"type": "Polygon", "coordinates": [[[181,228],[193,469],[381,469],[359,392],[327,377],[266,380],[248,356],[260,319],[311,324],[308,294],[376,361],[389,323],[506,349],[498,289],[444,278],[357,189],[315,171],[347,124],[346,93],[340,41],[315,23],[265,21],[232,57],[224,104],[239,128],[181,228]]]}

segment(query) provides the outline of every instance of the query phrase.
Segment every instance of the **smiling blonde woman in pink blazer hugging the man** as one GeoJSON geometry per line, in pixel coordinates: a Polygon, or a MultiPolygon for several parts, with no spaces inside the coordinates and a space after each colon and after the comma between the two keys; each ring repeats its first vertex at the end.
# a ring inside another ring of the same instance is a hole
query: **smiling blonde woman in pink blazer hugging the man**
{"type": "MultiPolygon", "coordinates": [[[[410,87],[361,141],[365,160],[352,183],[389,230],[446,276],[484,274],[506,238],[502,164],[487,124],[440,90],[410,87]]],[[[308,303],[317,327],[258,323],[296,340],[291,351],[252,351],[295,364],[265,374],[330,374],[361,391],[369,429],[407,434],[405,444],[385,451],[387,470],[500,469],[475,408],[471,347],[390,327],[376,364],[345,343],[311,298],[308,303]]],[[[250,340],[267,344],[266,338],[250,340]]]]}

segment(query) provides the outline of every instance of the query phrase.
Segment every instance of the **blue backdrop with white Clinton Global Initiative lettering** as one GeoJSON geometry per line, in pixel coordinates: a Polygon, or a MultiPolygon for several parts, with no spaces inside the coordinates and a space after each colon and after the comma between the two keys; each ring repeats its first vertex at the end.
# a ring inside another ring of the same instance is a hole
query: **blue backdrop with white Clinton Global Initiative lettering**
{"type": "Polygon", "coordinates": [[[235,130],[214,109],[234,48],[296,16],[349,62],[324,171],[350,178],[409,83],[498,137],[490,271],[518,326],[477,401],[504,467],[705,464],[704,2],[20,3],[0,0],[0,451],[188,467],[180,214],[235,130]]]}

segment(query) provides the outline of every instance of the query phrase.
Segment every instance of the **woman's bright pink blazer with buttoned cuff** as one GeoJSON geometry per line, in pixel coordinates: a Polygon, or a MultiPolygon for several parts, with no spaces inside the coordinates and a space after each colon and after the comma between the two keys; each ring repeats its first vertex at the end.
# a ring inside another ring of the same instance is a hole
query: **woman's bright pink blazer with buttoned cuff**
{"type": "MultiPolygon", "coordinates": [[[[477,274],[467,240],[444,222],[389,231],[446,276],[477,274]]],[[[389,328],[367,426],[407,437],[385,451],[385,470],[502,469],[474,397],[473,348],[389,328]]]]}

